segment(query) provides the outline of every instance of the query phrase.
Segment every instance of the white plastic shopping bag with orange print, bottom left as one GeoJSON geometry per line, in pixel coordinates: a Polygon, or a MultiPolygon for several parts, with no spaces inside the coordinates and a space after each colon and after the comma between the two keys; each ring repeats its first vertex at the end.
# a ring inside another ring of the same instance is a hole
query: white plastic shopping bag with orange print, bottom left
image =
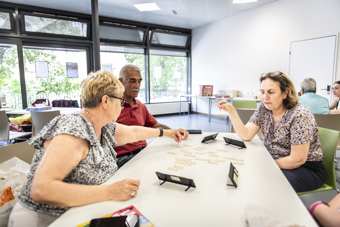
{"type": "Polygon", "coordinates": [[[0,164],[0,227],[7,227],[8,218],[17,203],[31,165],[13,157],[0,164]]]}

